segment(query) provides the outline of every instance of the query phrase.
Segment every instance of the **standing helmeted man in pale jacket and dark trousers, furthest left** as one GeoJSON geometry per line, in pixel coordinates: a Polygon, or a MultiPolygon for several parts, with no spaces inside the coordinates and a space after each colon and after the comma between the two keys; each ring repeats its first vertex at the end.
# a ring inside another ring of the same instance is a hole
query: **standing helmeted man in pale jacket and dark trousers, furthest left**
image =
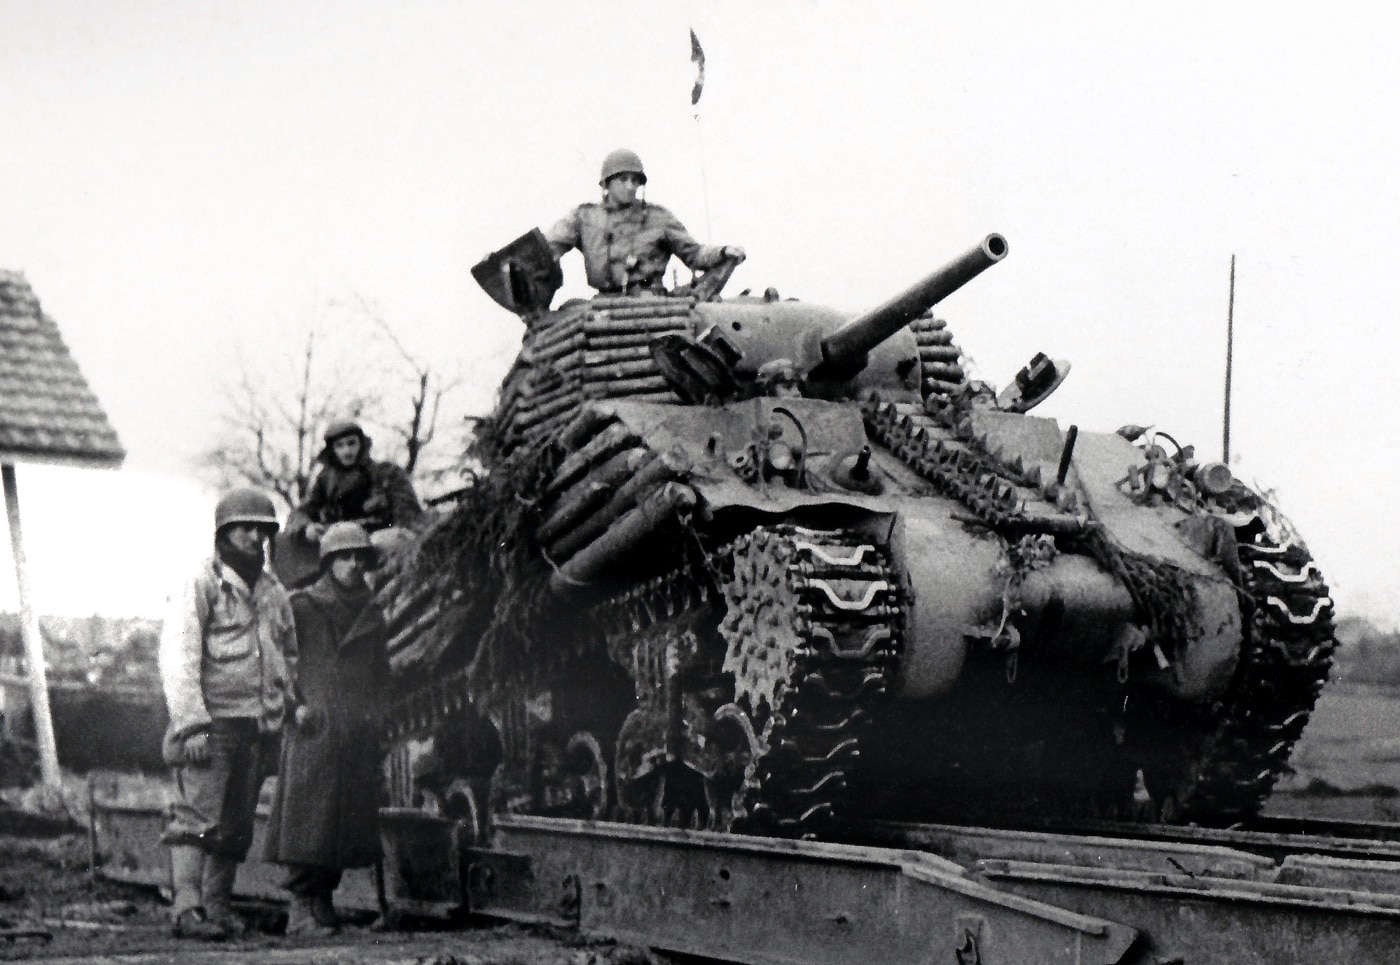
{"type": "Polygon", "coordinates": [[[265,569],[277,532],[272,500],[234,489],[214,507],[214,555],[172,599],[160,669],[171,724],[165,761],[175,800],[162,840],[171,850],[172,930],[223,938],[246,930],[230,896],[253,836],[263,776],[277,754],[286,702],[291,604],[265,569]]]}

